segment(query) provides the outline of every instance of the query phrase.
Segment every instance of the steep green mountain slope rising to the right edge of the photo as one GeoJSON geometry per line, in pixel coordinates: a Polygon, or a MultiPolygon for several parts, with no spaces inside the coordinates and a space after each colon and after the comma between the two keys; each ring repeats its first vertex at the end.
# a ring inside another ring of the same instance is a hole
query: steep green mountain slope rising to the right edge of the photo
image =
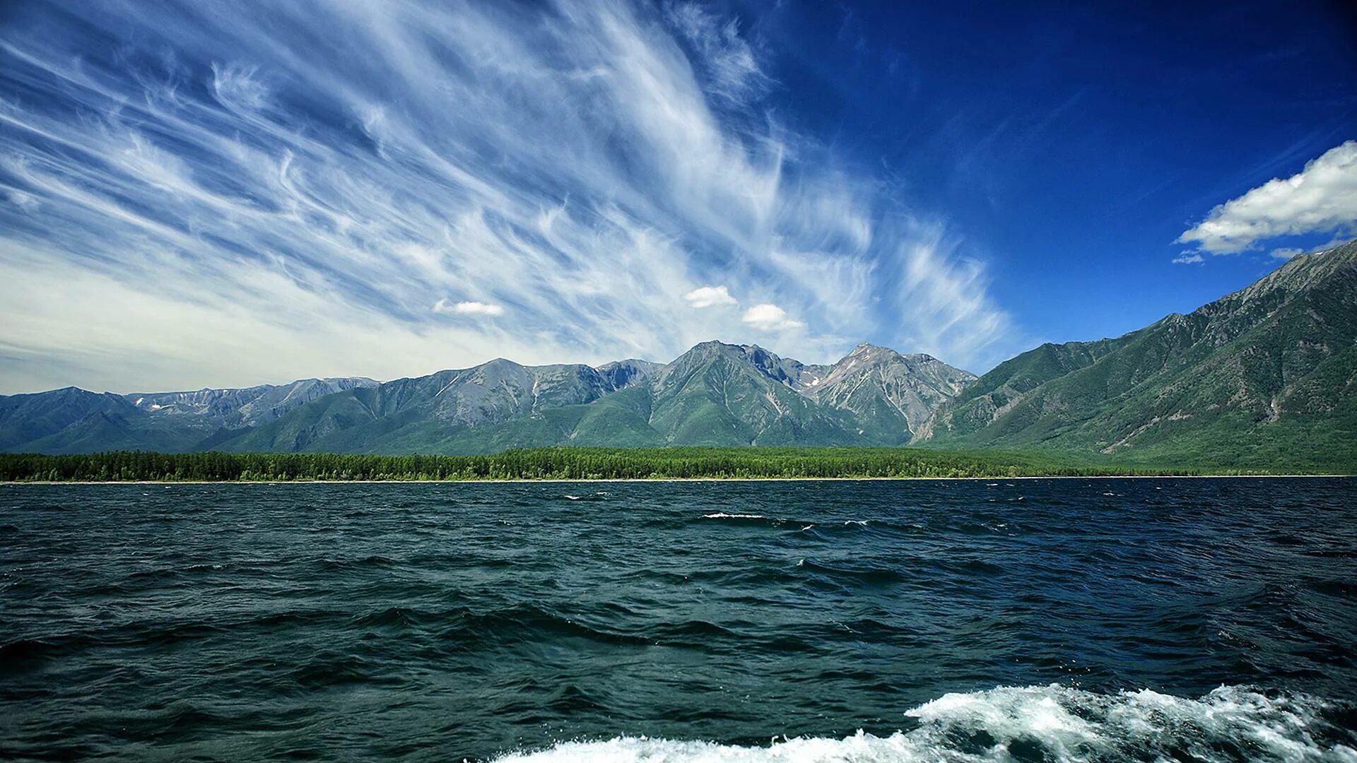
{"type": "Polygon", "coordinates": [[[919,440],[1357,467],[1357,242],[1115,339],[1026,352],[938,406],[919,440]]]}

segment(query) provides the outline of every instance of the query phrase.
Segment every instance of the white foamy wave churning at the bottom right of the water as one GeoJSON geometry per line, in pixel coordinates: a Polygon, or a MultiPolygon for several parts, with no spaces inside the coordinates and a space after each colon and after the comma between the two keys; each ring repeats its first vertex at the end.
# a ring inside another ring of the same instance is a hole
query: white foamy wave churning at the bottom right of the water
{"type": "Polygon", "coordinates": [[[1357,739],[1304,694],[1220,687],[1200,699],[1156,691],[1098,694],[1060,684],[946,694],[905,711],[917,726],[890,736],[797,737],[768,747],[616,737],[567,741],[497,760],[597,762],[982,762],[1318,760],[1357,762],[1357,739]]]}

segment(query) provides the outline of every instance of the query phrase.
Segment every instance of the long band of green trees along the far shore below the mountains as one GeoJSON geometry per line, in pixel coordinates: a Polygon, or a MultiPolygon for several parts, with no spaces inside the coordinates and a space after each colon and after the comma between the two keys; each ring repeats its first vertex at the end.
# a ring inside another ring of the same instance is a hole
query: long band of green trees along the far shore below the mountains
{"type": "MultiPolygon", "coordinates": [[[[1198,474],[1090,466],[1039,453],[924,448],[533,448],[484,456],[357,453],[0,453],[5,482],[738,479],[1198,474]]],[[[1220,474],[1220,471],[1215,471],[1220,474]]]]}

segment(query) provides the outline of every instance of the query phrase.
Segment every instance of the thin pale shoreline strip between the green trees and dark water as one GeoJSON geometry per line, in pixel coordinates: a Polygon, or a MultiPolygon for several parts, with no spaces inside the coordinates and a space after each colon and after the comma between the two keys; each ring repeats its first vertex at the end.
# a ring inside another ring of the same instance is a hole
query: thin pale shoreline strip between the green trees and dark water
{"type": "Polygon", "coordinates": [[[1096,474],[1023,477],[598,477],[574,479],[60,479],[0,481],[16,485],[566,485],[594,482],[996,482],[1015,479],[1352,479],[1354,474],[1096,474]]]}

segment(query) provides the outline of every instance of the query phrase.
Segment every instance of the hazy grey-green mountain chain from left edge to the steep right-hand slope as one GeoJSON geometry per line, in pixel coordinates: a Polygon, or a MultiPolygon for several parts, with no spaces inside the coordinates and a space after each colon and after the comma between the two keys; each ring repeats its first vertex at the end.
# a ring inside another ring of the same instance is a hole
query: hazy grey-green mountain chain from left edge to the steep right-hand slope
{"type": "Polygon", "coordinates": [[[862,345],[806,365],[703,342],[669,364],[525,367],[307,379],[246,390],[0,398],[0,449],[478,453],[529,445],[901,444],[974,376],[862,345]]]}

